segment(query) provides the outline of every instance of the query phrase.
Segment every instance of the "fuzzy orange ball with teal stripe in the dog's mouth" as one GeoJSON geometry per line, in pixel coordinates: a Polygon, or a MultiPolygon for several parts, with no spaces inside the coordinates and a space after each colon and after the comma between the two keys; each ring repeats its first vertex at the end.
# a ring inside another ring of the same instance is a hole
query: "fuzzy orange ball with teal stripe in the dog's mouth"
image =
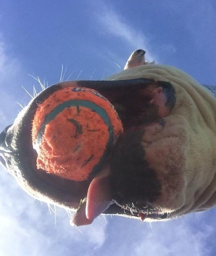
{"type": "Polygon", "coordinates": [[[32,126],[37,168],[83,181],[99,171],[123,132],[111,103],[89,88],[67,87],[38,106],[32,126]]]}

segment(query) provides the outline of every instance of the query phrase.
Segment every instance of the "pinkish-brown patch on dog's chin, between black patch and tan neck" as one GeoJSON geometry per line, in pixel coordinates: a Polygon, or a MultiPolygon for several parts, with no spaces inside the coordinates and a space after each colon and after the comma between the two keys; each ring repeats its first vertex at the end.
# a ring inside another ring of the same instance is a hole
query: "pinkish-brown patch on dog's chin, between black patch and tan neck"
{"type": "Polygon", "coordinates": [[[151,136],[148,136],[148,132],[145,133],[143,146],[145,160],[155,171],[161,185],[161,194],[154,205],[171,212],[182,208],[185,203],[187,141],[179,136],[182,129],[169,122],[170,120],[163,127],[154,124],[155,132],[152,133],[149,129],[151,136]]]}

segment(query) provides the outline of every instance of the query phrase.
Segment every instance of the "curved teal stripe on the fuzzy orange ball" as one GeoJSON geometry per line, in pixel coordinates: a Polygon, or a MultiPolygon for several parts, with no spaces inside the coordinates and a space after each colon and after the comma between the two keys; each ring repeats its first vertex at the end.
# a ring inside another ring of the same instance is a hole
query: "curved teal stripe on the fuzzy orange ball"
{"type": "Polygon", "coordinates": [[[103,166],[103,163],[106,159],[106,156],[109,153],[109,148],[111,147],[113,140],[114,140],[114,131],[113,131],[113,125],[111,123],[110,117],[108,116],[107,112],[97,104],[93,103],[92,101],[88,100],[69,100],[65,101],[58,106],[56,106],[49,114],[47,114],[44,118],[43,123],[41,124],[41,127],[38,130],[38,135],[36,137],[35,143],[33,148],[37,151],[39,150],[39,145],[41,144],[41,139],[44,135],[45,126],[54,120],[54,118],[61,113],[65,108],[70,108],[73,106],[80,106],[80,107],[86,107],[89,108],[92,111],[95,111],[101,118],[103,119],[104,123],[108,126],[108,132],[109,132],[109,139],[106,144],[106,150],[103,153],[103,156],[101,157],[100,161],[97,165],[94,166],[92,172],[88,176],[88,179],[94,176],[103,166]]]}

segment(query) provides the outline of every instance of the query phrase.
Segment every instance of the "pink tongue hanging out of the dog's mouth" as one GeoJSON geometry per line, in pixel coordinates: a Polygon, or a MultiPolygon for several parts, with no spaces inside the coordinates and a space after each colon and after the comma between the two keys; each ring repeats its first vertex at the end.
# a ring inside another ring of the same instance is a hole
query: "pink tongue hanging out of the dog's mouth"
{"type": "Polygon", "coordinates": [[[110,168],[106,166],[92,180],[87,192],[87,198],[71,220],[72,225],[82,226],[91,224],[92,221],[103,213],[112,203],[110,192],[110,168]]]}

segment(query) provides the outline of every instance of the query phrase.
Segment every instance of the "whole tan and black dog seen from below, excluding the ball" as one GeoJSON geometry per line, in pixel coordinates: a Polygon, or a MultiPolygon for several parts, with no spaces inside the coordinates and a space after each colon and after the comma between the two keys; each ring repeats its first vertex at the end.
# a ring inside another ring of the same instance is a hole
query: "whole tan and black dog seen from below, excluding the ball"
{"type": "Polygon", "coordinates": [[[50,86],[0,134],[0,161],[17,183],[40,201],[77,210],[77,226],[101,213],[162,221],[216,205],[216,98],[185,72],[144,55],[134,51],[124,70],[104,81],[50,86]],[[108,98],[124,127],[106,165],[86,181],[37,170],[31,141],[38,105],[70,86],[108,98]]]}

